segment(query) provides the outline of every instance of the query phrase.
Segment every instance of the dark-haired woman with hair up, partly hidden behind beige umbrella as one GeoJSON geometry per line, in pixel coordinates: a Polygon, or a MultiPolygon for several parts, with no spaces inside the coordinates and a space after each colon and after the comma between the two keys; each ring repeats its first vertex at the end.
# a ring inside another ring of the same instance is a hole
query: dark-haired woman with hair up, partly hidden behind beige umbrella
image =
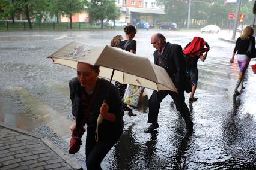
{"type": "MultiPolygon", "coordinates": [[[[124,27],[124,32],[126,33],[125,38],[119,41],[115,45],[115,47],[122,48],[123,50],[129,51],[130,53],[135,54],[136,41],[133,40],[133,38],[135,37],[137,29],[133,25],[127,25],[126,27],[124,27]]],[[[127,84],[121,84],[119,82],[115,82],[115,86],[117,86],[120,96],[121,98],[123,98],[124,93],[126,91],[127,84]]],[[[128,111],[129,116],[136,116],[136,114],[133,113],[132,109],[128,108],[126,104],[123,104],[123,108],[124,108],[124,111],[128,111]]]]}

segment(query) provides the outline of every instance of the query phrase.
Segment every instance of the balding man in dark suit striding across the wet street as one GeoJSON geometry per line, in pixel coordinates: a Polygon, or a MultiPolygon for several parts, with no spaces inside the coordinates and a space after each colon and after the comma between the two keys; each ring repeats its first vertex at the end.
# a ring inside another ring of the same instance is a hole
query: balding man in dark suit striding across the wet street
{"type": "Polygon", "coordinates": [[[183,50],[180,45],[166,42],[165,37],[160,33],[154,34],[151,37],[151,44],[156,48],[156,51],[154,51],[154,63],[165,68],[178,90],[178,94],[168,90],[161,90],[159,92],[154,90],[149,99],[148,113],[148,123],[152,124],[145,130],[145,133],[153,132],[154,129],[158,128],[157,118],[160,103],[167,95],[172,97],[177,111],[180,112],[185,120],[187,132],[192,133],[193,122],[190,118],[189,109],[185,103],[183,87],[184,74],[186,73],[186,61],[183,50]]]}

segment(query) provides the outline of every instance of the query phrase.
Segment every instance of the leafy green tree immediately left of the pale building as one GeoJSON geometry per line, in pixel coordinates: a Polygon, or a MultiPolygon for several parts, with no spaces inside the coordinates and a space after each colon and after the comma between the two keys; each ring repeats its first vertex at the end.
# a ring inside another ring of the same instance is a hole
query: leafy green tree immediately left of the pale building
{"type": "Polygon", "coordinates": [[[120,16],[120,12],[115,7],[115,0],[91,0],[87,3],[87,7],[90,22],[100,20],[102,29],[104,19],[115,20],[120,16]]]}

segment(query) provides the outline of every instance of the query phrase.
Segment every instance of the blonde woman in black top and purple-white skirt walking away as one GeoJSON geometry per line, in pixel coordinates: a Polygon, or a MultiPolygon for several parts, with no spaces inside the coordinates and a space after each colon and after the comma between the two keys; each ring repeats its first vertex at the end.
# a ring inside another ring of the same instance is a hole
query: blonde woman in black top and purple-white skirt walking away
{"type": "Polygon", "coordinates": [[[236,58],[240,68],[240,72],[238,75],[236,87],[234,89],[234,95],[240,94],[237,89],[241,83],[241,90],[243,89],[243,78],[245,76],[245,71],[248,68],[249,62],[251,61],[251,59],[246,56],[246,51],[248,50],[250,41],[252,41],[252,47],[255,47],[255,37],[252,35],[254,35],[254,29],[251,26],[246,26],[246,28],[243,30],[243,34],[239,38],[237,38],[236,46],[234,47],[234,51],[230,59],[230,63],[233,63],[234,56],[237,53],[236,58]]]}

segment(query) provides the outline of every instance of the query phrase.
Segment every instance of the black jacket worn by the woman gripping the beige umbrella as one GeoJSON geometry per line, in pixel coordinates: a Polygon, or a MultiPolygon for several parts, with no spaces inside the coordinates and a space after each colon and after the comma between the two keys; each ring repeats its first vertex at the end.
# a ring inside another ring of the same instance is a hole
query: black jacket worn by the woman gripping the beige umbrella
{"type": "MultiPolygon", "coordinates": [[[[104,139],[109,136],[115,135],[116,132],[123,131],[123,107],[120,95],[118,93],[117,87],[114,84],[109,84],[109,81],[105,79],[97,80],[97,83],[100,81],[99,91],[97,92],[96,98],[91,104],[90,114],[87,115],[87,125],[88,130],[93,130],[93,133],[96,130],[97,118],[100,114],[100,107],[103,101],[109,105],[109,113],[115,114],[115,121],[108,121],[103,119],[102,124],[99,125],[99,138],[104,139]],[[109,89],[109,94],[106,96],[106,93],[109,89]]],[[[97,85],[96,85],[97,86],[97,85]]],[[[86,110],[86,104],[84,96],[90,99],[91,96],[87,95],[84,91],[84,87],[78,81],[78,78],[73,78],[69,83],[70,87],[70,99],[72,101],[72,114],[76,117],[77,126],[81,125],[82,119],[84,119],[84,113],[86,110]],[[79,124],[80,123],[80,124],[79,124]]],[[[95,134],[95,133],[94,133],[95,134]]]]}

